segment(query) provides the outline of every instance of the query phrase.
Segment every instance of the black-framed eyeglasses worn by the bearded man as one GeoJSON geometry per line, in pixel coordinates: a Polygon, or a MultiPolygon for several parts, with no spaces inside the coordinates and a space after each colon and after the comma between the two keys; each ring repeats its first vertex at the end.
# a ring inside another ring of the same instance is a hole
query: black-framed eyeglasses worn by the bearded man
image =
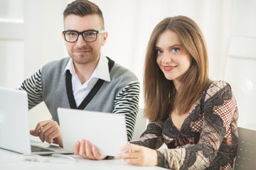
{"type": "Polygon", "coordinates": [[[83,40],[86,42],[94,42],[97,40],[97,34],[104,33],[104,30],[85,30],[78,32],[76,30],[64,30],[63,34],[67,42],[76,42],[79,35],[82,35],[83,40]]]}

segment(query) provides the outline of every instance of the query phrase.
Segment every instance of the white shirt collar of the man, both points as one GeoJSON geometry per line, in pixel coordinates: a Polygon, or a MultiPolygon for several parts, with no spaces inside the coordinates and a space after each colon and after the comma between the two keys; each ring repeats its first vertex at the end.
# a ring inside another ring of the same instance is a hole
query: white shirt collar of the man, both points
{"type": "MultiPolygon", "coordinates": [[[[73,60],[71,58],[68,61],[68,64],[65,67],[63,74],[65,74],[67,70],[70,70],[70,73],[75,77],[77,77],[77,74],[75,73],[73,60]]],[[[95,71],[92,73],[92,76],[90,77],[90,79],[93,77],[97,79],[103,79],[105,81],[110,81],[110,71],[108,67],[108,60],[107,60],[107,57],[105,57],[105,55],[102,55],[102,53],[100,54],[100,60],[97,64],[97,67],[95,68],[95,71]]]]}

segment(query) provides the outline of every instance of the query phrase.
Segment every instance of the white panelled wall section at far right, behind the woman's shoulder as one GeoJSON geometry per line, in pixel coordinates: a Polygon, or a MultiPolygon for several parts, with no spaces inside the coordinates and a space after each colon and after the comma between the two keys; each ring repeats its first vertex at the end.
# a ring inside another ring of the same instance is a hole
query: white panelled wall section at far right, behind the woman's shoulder
{"type": "Polygon", "coordinates": [[[256,1],[236,0],[225,79],[238,101],[238,125],[256,130],[256,1]]]}

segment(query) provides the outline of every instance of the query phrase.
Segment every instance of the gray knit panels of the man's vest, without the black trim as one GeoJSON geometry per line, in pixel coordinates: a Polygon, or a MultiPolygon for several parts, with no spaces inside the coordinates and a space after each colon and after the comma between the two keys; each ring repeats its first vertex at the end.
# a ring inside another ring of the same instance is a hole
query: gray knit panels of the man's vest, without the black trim
{"type": "MultiPolygon", "coordinates": [[[[43,86],[43,101],[46,103],[53,120],[58,122],[57,108],[70,108],[65,85],[65,74],[63,74],[68,60],[64,58],[50,62],[43,66],[41,72],[41,83],[43,86]]],[[[133,81],[138,81],[137,77],[128,69],[114,63],[110,71],[111,81],[104,81],[100,90],[95,94],[84,110],[100,111],[112,113],[114,109],[114,99],[133,81]]]]}

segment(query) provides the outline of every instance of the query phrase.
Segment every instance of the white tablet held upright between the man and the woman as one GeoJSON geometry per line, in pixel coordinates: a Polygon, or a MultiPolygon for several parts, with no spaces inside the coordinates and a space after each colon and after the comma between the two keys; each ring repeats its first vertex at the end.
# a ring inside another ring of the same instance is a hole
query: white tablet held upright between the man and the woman
{"type": "Polygon", "coordinates": [[[89,140],[100,154],[117,156],[127,145],[125,116],[113,113],[58,108],[63,147],[74,152],[76,142],[89,140]]]}

